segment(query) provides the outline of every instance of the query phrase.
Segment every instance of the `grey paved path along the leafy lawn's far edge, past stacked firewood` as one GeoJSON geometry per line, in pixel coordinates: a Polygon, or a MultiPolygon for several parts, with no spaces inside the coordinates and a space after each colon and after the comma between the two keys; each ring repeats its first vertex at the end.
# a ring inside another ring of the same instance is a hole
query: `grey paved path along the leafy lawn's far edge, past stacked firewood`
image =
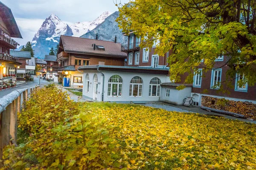
{"type": "Polygon", "coordinates": [[[191,113],[201,113],[209,116],[218,116],[218,117],[224,117],[227,119],[233,119],[233,120],[240,120],[242,122],[250,122],[256,124],[255,120],[250,120],[250,119],[242,119],[238,118],[235,116],[229,116],[229,115],[224,115],[220,113],[215,113],[215,112],[209,112],[205,111],[199,107],[186,107],[186,106],[176,106],[176,105],[171,105],[163,102],[154,102],[154,103],[148,103],[148,104],[143,104],[144,106],[152,107],[152,108],[161,108],[166,111],[177,111],[177,112],[191,112],[191,113]]]}

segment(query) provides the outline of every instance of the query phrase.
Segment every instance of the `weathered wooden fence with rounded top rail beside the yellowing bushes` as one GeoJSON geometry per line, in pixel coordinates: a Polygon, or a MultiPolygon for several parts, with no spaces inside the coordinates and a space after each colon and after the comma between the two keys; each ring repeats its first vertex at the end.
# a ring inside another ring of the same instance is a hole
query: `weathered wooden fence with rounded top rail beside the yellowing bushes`
{"type": "Polygon", "coordinates": [[[0,98],[0,159],[2,159],[3,148],[9,144],[10,139],[16,143],[17,113],[21,111],[32,91],[38,88],[40,85],[16,90],[0,98]]]}

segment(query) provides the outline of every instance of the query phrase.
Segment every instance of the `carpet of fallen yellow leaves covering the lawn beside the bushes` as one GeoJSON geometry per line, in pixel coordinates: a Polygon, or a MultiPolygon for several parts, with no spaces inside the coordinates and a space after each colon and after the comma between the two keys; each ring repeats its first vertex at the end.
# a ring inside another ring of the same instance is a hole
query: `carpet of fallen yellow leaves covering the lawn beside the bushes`
{"type": "Polygon", "coordinates": [[[117,126],[131,169],[256,169],[256,125],[138,105],[86,104],[117,126]]]}

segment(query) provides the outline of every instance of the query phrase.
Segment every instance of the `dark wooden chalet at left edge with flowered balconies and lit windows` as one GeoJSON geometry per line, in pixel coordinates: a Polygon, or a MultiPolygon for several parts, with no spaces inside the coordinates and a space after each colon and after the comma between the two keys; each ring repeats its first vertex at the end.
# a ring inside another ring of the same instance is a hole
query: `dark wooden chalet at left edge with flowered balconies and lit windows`
{"type": "Polygon", "coordinates": [[[10,8],[0,2],[0,80],[10,81],[15,77],[17,66],[22,63],[10,55],[10,49],[16,49],[18,43],[11,37],[22,38],[10,8]]]}

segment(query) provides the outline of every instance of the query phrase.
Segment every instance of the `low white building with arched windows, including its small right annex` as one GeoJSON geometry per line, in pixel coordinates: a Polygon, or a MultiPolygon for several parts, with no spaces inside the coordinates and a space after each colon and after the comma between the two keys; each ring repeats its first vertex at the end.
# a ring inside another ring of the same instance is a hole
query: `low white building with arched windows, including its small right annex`
{"type": "Polygon", "coordinates": [[[143,103],[168,101],[177,105],[190,96],[191,86],[181,91],[169,79],[169,68],[112,65],[80,66],[83,71],[83,96],[104,102],[143,103]],[[172,94],[172,95],[170,95],[172,94]]]}

